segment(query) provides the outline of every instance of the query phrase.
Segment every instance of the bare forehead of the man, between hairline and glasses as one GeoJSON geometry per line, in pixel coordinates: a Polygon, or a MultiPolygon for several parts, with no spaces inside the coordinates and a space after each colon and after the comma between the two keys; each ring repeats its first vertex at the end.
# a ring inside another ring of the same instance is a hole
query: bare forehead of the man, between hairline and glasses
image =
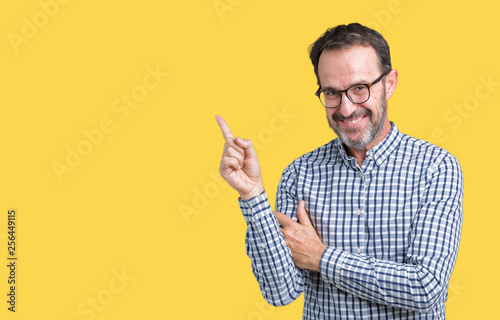
{"type": "Polygon", "coordinates": [[[322,87],[341,89],[358,82],[371,82],[379,73],[378,56],[372,47],[326,50],[319,58],[318,75],[322,87]]]}

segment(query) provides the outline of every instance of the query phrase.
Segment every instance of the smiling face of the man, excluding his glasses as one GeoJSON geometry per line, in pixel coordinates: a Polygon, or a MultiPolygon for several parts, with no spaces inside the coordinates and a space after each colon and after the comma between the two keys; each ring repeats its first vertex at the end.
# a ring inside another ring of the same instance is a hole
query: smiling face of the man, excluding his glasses
{"type": "MultiPolygon", "coordinates": [[[[319,59],[322,88],[345,90],[354,84],[372,83],[381,74],[377,53],[372,47],[323,51],[319,59]]],[[[390,131],[385,80],[373,85],[370,92],[370,98],[362,104],[352,103],[342,93],[340,106],[325,108],[330,127],[349,147],[368,150],[390,131]]]]}

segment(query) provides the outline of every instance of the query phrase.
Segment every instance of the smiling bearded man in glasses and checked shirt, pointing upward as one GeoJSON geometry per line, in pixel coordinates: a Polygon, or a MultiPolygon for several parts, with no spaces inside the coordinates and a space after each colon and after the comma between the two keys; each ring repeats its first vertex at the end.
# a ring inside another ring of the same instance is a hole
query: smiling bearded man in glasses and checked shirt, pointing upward
{"type": "Polygon", "coordinates": [[[462,225],[458,161],[388,120],[398,72],[378,32],[329,29],[310,58],[338,138],[284,170],[279,212],[251,141],[217,116],[220,173],[240,194],[264,298],[280,306],[304,292],[304,319],[445,319],[462,225]]]}

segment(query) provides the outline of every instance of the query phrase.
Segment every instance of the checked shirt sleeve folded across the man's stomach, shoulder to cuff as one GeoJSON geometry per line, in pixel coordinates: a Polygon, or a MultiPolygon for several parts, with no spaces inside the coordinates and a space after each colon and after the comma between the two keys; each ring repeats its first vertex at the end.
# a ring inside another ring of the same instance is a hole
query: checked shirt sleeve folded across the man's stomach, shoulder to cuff
{"type": "Polygon", "coordinates": [[[404,263],[328,247],[320,275],[337,288],[375,303],[429,312],[447,295],[462,227],[463,176],[445,154],[428,169],[404,263]]]}

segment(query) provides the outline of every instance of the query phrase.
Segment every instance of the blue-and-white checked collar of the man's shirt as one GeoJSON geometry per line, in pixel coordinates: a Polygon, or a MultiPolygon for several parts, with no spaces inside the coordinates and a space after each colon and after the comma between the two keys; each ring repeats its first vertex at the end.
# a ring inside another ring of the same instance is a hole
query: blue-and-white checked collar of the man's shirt
{"type": "MultiPolygon", "coordinates": [[[[394,122],[391,122],[391,130],[389,131],[387,136],[379,144],[368,150],[366,152],[366,157],[373,159],[377,165],[381,165],[389,157],[389,155],[391,155],[391,153],[398,148],[402,138],[403,134],[399,132],[396,124],[394,122]]],[[[340,161],[343,161],[346,165],[349,165],[349,163],[355,160],[354,157],[350,157],[347,155],[344,149],[344,145],[339,138],[335,139],[335,143],[337,145],[337,151],[340,161]]]]}

